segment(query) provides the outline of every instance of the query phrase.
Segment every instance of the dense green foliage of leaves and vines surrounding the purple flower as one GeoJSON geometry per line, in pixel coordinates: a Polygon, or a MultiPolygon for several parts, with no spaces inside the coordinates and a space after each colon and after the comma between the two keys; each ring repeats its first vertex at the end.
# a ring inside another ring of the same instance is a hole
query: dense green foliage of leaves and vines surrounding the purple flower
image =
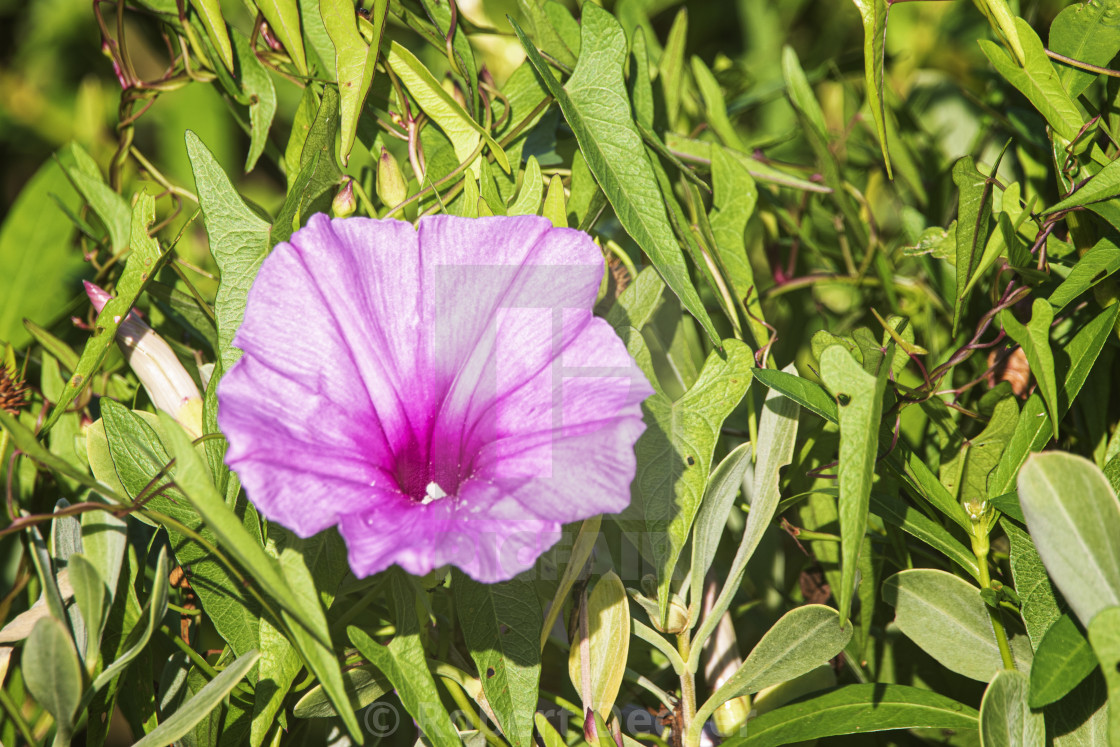
{"type": "Polygon", "coordinates": [[[0,741],[1120,744],[1120,2],[371,4],[0,3],[0,741]],[[629,507],[493,585],[262,520],[320,212],[590,234],[629,507]]]}

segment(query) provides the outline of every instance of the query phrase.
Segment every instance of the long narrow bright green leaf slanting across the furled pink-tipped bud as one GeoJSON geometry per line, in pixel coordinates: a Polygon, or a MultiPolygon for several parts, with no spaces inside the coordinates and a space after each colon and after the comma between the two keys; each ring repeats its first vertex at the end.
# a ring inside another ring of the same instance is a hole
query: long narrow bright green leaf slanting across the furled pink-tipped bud
{"type": "Polygon", "coordinates": [[[90,379],[101,367],[109,353],[109,347],[116,338],[116,330],[121,326],[121,321],[128,316],[132,305],[136,304],[137,298],[166,256],[159,248],[159,242],[148,235],[148,226],[155,220],[156,199],[147,193],[140,193],[132,206],[132,232],[129,241],[132,252],[124,264],[124,272],[121,273],[121,278],[116,282],[116,296],[106,301],[101,314],[97,315],[97,320],[93,325],[93,335],[82,349],[77,368],[66,382],[62,396],[39,430],[40,436],[58,422],[58,418],[66,412],[69,403],[85,389],[90,379]]]}

